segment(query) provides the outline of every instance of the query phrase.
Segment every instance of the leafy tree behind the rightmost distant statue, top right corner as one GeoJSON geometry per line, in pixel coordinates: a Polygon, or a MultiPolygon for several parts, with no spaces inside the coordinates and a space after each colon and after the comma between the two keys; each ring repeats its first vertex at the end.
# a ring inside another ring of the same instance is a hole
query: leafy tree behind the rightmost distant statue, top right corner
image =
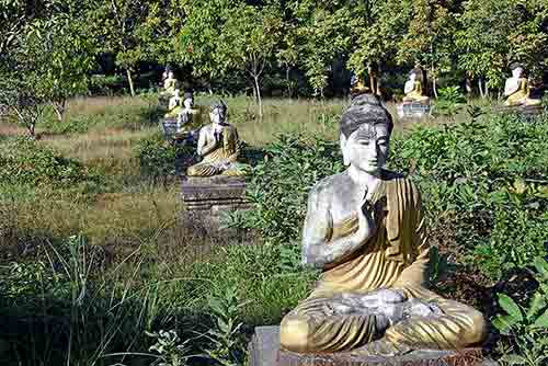
{"type": "Polygon", "coordinates": [[[502,87],[512,61],[525,64],[537,77],[548,69],[546,1],[469,0],[459,23],[458,65],[478,79],[482,96],[502,87]]]}

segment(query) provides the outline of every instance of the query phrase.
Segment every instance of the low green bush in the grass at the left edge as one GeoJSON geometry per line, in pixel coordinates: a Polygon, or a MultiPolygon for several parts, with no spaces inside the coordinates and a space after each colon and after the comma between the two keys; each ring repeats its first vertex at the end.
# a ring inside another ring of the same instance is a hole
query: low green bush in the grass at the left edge
{"type": "Polygon", "coordinates": [[[27,138],[0,144],[0,182],[14,185],[55,185],[99,183],[99,176],[73,159],[27,138]]]}

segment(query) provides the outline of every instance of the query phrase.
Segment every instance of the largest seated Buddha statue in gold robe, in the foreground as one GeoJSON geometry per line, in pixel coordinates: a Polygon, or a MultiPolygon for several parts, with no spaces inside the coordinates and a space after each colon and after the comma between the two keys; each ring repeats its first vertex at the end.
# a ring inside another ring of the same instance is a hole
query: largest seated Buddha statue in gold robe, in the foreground
{"type": "Polygon", "coordinates": [[[486,320],[427,289],[430,248],[415,184],[385,169],[392,118],[372,94],[340,122],[347,169],[310,191],[302,261],[321,270],[311,295],[281,324],[296,353],[399,355],[480,344],[486,320]]]}

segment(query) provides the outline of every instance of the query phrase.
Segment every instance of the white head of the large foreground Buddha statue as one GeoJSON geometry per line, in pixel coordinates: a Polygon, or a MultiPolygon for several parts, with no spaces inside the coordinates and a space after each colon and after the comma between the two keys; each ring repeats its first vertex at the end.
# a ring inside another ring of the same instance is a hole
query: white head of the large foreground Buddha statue
{"type": "Polygon", "coordinates": [[[378,175],[388,159],[392,117],[373,94],[352,100],[340,123],[340,142],[345,165],[378,175]]]}

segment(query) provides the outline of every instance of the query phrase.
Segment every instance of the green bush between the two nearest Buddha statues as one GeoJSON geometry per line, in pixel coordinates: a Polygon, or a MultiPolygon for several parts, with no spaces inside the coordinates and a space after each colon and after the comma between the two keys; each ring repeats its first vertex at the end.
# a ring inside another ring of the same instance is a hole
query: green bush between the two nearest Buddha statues
{"type": "Polygon", "coordinates": [[[284,135],[264,152],[247,190],[254,209],[233,215],[230,225],[256,229],[270,242],[292,243],[300,238],[312,185],[342,170],[340,150],[331,141],[284,135]]]}

